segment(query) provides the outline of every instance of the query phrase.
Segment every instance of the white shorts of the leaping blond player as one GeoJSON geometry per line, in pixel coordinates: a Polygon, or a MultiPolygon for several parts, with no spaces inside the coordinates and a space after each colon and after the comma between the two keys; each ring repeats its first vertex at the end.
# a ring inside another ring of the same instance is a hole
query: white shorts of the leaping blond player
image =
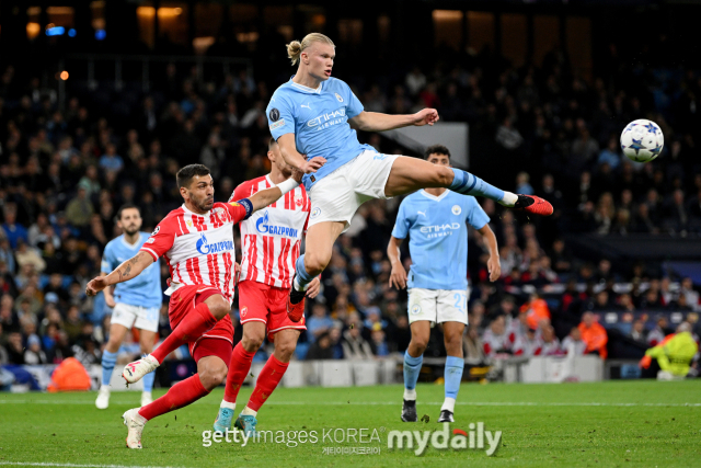
{"type": "Polygon", "coordinates": [[[388,198],[384,186],[397,158],[404,157],[365,150],[317,182],[309,191],[311,212],[308,226],[345,221],[345,232],[360,205],[374,198],[388,198]]]}

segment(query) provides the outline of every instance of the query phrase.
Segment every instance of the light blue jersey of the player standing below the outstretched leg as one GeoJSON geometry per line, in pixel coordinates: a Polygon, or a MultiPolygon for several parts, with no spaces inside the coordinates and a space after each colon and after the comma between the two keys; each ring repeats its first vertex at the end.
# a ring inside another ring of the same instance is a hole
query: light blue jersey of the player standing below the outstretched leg
{"type": "Polygon", "coordinates": [[[489,221],[473,196],[449,190],[434,196],[421,190],[404,198],[392,236],[410,237],[409,287],[467,289],[468,224],[481,229],[489,221]]]}

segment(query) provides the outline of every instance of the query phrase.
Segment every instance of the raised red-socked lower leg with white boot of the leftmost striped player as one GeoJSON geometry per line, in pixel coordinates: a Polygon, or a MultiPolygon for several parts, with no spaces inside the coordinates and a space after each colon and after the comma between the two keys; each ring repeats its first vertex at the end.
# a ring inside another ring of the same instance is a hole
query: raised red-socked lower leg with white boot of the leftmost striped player
{"type": "Polygon", "coordinates": [[[129,384],[139,381],[146,374],[160,366],[170,353],[183,344],[202,336],[217,321],[226,317],[230,310],[229,301],[220,294],[214,294],[196,306],[193,304],[182,321],[163,340],[161,345],[145,358],[127,364],[122,376],[129,384]]]}

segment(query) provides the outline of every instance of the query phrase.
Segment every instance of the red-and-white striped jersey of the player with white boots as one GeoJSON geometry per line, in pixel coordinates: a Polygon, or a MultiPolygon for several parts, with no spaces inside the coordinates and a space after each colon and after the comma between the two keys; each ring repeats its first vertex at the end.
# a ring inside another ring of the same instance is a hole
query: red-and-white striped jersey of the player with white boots
{"type": "Polygon", "coordinates": [[[232,228],[251,209],[248,199],[215,203],[206,215],[183,205],[158,224],[140,250],[154,260],[162,255],[174,283],[215,286],[231,303],[235,260],[232,228]]]}

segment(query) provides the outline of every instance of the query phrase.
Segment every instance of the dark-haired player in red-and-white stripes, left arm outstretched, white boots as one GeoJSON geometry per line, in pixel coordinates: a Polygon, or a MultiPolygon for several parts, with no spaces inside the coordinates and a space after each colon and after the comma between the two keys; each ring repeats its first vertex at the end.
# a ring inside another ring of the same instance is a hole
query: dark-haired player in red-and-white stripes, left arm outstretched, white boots
{"type": "Polygon", "coordinates": [[[122,376],[129,384],[138,381],[183,344],[189,345],[197,363],[197,374],[140,410],[124,413],[129,448],[141,448],[147,421],[198,400],[223,381],[233,335],[229,317],[234,288],[232,227],[299,185],[290,179],[238,203],[215,203],[214,181],[205,165],[186,165],[177,172],[176,180],[185,201],[183,206],[159,222],[139,253],[107,276],[92,279],[85,288],[88,296],[94,296],[107,286],[138,276],[164,256],[173,278],[165,292],[171,296],[169,319],[173,332],[153,353],[127,364],[122,376]]]}

